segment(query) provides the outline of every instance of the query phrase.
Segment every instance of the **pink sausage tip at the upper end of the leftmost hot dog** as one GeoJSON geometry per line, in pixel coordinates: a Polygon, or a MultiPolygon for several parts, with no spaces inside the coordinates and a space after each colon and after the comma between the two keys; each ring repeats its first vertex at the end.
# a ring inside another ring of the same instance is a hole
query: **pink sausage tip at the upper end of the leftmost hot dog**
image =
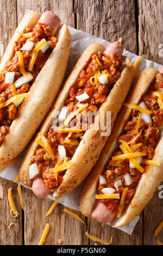
{"type": "Polygon", "coordinates": [[[38,23],[43,23],[51,26],[53,29],[53,35],[55,35],[57,29],[60,26],[60,19],[57,15],[53,13],[53,11],[45,11],[45,13],[41,15],[38,23]]]}

